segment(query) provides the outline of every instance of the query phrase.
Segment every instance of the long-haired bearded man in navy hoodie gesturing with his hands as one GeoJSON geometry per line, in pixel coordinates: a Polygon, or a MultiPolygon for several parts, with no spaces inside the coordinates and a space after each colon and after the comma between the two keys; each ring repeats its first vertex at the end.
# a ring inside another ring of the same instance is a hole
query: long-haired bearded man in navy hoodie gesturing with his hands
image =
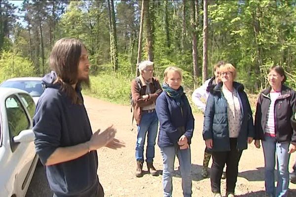
{"type": "Polygon", "coordinates": [[[104,197],[97,175],[97,149],[124,144],[111,126],[95,133],[83,104],[81,85],[89,86],[88,55],[74,38],[58,40],[50,54],[53,71],[42,79],[45,91],[33,118],[36,152],[46,166],[54,197],[104,197]]]}

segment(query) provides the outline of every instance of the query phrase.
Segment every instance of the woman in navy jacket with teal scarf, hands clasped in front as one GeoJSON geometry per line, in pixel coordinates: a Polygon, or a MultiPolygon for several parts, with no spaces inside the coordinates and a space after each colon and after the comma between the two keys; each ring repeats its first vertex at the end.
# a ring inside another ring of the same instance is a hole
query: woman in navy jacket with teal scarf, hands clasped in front
{"type": "Polygon", "coordinates": [[[164,71],[163,92],[156,100],[159,120],[158,146],[163,158],[163,196],[171,197],[175,157],[179,159],[184,197],[192,195],[190,143],[194,118],[188,99],[183,92],[182,71],[170,66],[164,71]]]}

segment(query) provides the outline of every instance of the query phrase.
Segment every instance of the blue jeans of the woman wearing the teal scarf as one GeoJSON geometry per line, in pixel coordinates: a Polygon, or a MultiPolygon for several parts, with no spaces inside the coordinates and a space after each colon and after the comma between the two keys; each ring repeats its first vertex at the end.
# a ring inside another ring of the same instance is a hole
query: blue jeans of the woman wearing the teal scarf
{"type": "Polygon", "coordinates": [[[191,177],[191,153],[190,148],[180,150],[174,146],[162,147],[160,152],[163,160],[162,185],[163,196],[172,197],[175,156],[179,159],[182,176],[182,189],[184,197],[191,197],[192,177],[191,177]]]}

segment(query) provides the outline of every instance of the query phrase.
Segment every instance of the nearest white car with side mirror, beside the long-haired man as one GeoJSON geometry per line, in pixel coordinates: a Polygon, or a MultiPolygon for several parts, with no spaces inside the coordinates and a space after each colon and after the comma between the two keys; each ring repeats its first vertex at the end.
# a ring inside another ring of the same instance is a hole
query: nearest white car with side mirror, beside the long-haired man
{"type": "Polygon", "coordinates": [[[35,102],[23,90],[0,87],[0,196],[25,197],[38,156],[32,118],[35,102]]]}

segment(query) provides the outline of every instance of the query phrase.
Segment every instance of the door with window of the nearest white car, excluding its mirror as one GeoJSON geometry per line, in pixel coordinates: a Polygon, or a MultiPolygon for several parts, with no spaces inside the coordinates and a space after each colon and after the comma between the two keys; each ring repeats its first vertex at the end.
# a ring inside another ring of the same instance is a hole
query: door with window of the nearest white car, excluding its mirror
{"type": "MultiPolygon", "coordinates": [[[[32,128],[30,111],[32,114],[35,104],[32,98],[28,98],[30,96],[27,94],[19,94],[11,95],[5,100],[10,150],[12,153],[11,158],[9,158],[9,166],[14,168],[14,182],[10,184],[14,184],[14,194],[19,197],[25,196],[27,192],[27,186],[31,180],[30,173],[33,173],[32,164],[36,156],[34,142],[13,142],[14,136],[17,136],[23,130],[32,128]],[[31,102],[33,102],[33,105],[31,102]]],[[[35,169],[35,166],[33,168],[35,169]]]]}

